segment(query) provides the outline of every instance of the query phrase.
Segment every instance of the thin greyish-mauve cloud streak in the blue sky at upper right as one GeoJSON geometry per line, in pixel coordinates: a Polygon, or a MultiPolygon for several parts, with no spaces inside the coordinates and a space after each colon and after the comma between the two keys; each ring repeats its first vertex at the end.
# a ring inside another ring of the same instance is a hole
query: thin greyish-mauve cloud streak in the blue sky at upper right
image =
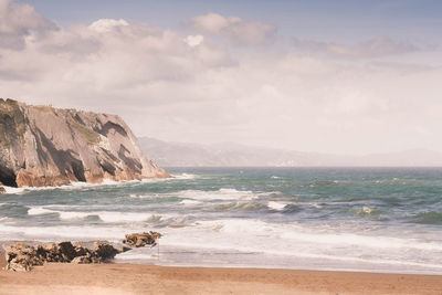
{"type": "Polygon", "coordinates": [[[372,59],[406,54],[419,50],[412,44],[397,42],[389,38],[371,39],[354,45],[294,39],[293,45],[297,51],[322,53],[340,59],[372,59]]]}

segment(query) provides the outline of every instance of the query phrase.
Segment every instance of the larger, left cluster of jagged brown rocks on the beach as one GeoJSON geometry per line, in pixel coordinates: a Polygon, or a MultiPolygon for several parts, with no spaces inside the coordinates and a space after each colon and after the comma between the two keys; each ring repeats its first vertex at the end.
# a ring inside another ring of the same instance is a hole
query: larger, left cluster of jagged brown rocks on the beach
{"type": "Polygon", "coordinates": [[[107,242],[95,242],[94,250],[72,244],[71,242],[45,245],[17,243],[3,245],[7,260],[6,270],[30,271],[35,265],[46,262],[62,263],[102,263],[113,259],[120,251],[107,242]]]}

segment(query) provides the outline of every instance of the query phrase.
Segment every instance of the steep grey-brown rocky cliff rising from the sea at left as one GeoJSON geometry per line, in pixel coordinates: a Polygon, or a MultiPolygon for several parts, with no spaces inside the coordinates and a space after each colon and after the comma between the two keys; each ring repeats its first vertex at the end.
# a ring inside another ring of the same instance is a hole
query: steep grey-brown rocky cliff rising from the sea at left
{"type": "Polygon", "coordinates": [[[115,115],[0,99],[0,182],[11,187],[169,177],[115,115]]]}

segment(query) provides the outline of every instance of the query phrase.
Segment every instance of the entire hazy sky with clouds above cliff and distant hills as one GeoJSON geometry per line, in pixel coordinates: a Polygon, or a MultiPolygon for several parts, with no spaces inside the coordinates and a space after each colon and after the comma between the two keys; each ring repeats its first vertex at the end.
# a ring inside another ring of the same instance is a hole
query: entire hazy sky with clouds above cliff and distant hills
{"type": "Polygon", "coordinates": [[[442,1],[0,0],[0,97],[164,140],[442,150],[442,1]]]}

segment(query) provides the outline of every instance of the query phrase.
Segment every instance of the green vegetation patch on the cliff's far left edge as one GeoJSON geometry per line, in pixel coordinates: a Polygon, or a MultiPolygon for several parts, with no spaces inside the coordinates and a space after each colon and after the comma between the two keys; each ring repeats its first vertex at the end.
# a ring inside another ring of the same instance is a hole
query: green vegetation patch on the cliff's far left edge
{"type": "Polygon", "coordinates": [[[25,131],[27,120],[17,101],[0,98],[0,146],[10,148],[25,131]]]}

